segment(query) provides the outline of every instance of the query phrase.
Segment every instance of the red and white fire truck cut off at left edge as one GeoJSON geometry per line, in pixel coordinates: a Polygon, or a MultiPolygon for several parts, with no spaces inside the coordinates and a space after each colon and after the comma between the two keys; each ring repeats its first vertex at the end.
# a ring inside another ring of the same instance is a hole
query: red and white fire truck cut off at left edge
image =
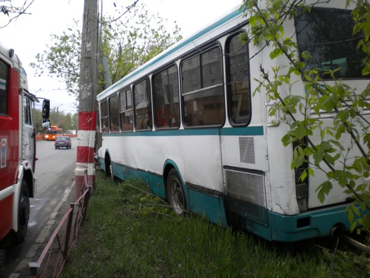
{"type": "MultiPolygon", "coordinates": [[[[0,44],[0,247],[26,236],[29,197],[36,191],[35,102],[18,56],[0,44]]],[[[49,100],[42,106],[42,127],[47,128],[49,100]]]]}

